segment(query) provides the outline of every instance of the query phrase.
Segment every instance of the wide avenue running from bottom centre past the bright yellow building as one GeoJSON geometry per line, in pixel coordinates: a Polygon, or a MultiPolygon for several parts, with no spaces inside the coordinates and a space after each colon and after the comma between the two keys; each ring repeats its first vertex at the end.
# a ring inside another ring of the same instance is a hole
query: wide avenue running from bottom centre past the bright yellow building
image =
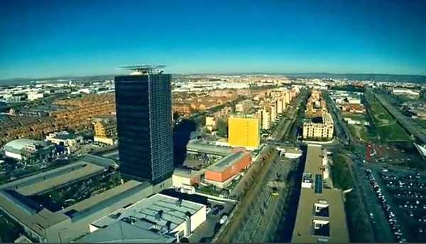
{"type": "MultiPolygon", "coordinates": [[[[260,172],[252,182],[250,190],[241,198],[234,216],[226,228],[217,235],[217,242],[271,242],[275,240],[276,230],[284,216],[284,206],[288,198],[287,178],[293,164],[288,159],[281,159],[270,142],[279,142],[297,121],[300,102],[307,96],[307,90],[291,103],[287,115],[275,127],[268,140],[268,149],[263,149],[258,159],[262,164],[260,172]],[[269,153],[269,155],[268,155],[269,153]],[[278,196],[273,196],[271,184],[278,189],[278,196]]],[[[292,142],[288,142],[291,144],[292,142]]],[[[293,143],[294,144],[294,143],[293,143]]],[[[297,161],[298,162],[298,161],[297,161]]]]}

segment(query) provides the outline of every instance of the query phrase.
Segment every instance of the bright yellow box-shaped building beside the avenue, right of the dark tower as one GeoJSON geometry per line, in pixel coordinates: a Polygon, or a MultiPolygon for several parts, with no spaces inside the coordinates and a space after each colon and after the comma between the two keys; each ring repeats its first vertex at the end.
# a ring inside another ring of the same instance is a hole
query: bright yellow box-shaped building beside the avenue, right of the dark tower
{"type": "Polygon", "coordinates": [[[259,119],[257,117],[229,117],[228,142],[231,147],[258,149],[261,144],[259,119]]]}

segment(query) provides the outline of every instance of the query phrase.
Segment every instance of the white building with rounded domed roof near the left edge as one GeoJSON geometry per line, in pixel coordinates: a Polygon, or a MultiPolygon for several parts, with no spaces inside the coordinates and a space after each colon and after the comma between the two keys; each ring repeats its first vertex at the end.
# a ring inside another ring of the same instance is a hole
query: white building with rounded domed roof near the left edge
{"type": "Polygon", "coordinates": [[[48,159],[53,157],[55,145],[33,139],[16,139],[4,145],[4,154],[18,160],[48,159]]]}

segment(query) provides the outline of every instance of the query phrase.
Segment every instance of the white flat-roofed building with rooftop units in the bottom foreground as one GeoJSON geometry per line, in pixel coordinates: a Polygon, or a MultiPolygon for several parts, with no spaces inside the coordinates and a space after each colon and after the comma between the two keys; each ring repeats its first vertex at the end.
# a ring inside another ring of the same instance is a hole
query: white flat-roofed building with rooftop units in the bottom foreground
{"type": "Polygon", "coordinates": [[[173,243],[206,221],[206,206],[163,194],[107,213],[89,224],[81,243],[173,243]]]}

